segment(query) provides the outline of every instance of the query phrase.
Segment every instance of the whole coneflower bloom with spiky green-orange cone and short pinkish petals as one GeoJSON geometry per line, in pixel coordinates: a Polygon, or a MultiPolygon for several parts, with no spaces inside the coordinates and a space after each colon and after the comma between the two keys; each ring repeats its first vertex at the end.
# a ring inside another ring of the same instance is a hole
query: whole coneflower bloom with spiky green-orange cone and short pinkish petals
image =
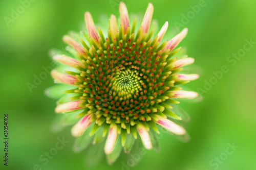
{"type": "Polygon", "coordinates": [[[171,111],[170,104],[179,103],[174,99],[198,96],[194,91],[177,87],[199,77],[179,73],[183,66],[194,63],[193,58],[175,57],[181,49],[176,47],[187,29],[161,42],[168,27],[165,22],[152,37],[153,10],[150,3],[141,26],[135,31],[136,19],[130,22],[126,6],[121,2],[120,26],[116,16],[111,15],[106,38],[86,12],[87,31],[63,36],[69,46],[65,53],[53,56],[61,65],[52,70],[51,76],[56,83],[68,84],[60,89],[68,88],[63,92],[69,94],[58,101],[55,112],[68,114],[65,116],[74,124],[71,133],[78,138],[76,151],[104,141],[107,160],[113,163],[120,148],[129,153],[138,136],[146,149],[152,149],[152,135],[160,133],[158,127],[175,135],[186,134],[182,126],[172,121],[181,117],[171,111]]]}

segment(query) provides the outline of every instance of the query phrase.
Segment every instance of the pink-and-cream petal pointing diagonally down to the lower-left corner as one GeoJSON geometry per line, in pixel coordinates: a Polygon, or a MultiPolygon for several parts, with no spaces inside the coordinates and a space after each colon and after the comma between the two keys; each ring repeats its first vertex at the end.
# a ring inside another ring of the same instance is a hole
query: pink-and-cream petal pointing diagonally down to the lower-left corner
{"type": "Polygon", "coordinates": [[[94,113],[83,116],[71,129],[71,134],[78,137],[94,122],[94,113]]]}

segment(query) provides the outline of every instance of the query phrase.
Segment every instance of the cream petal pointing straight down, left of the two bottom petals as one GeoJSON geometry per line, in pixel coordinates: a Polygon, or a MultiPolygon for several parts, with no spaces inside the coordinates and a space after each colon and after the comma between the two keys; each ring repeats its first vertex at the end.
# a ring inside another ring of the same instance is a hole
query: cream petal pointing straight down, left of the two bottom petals
{"type": "Polygon", "coordinates": [[[104,151],[106,155],[109,155],[113,152],[117,140],[117,125],[111,125],[109,135],[106,138],[106,143],[104,147],[104,151]]]}

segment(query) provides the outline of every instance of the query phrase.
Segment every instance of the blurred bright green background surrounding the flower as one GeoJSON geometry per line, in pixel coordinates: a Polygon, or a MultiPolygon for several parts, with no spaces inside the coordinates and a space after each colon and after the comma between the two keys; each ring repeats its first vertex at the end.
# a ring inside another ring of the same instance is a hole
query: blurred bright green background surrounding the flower
{"type": "MultiPolygon", "coordinates": [[[[113,0],[114,1],[114,0],[113,0]]],[[[117,1],[117,0],[116,0],[117,1]]],[[[46,80],[30,93],[27,83],[33,83],[34,75],[44,71],[42,66],[51,64],[49,50],[62,49],[61,38],[68,31],[80,31],[84,27],[83,14],[90,11],[97,23],[102,14],[118,14],[111,1],[60,1],[37,0],[7,26],[4,17],[11,17],[12,9],[19,1],[1,1],[0,70],[1,70],[1,169],[122,169],[124,158],[109,166],[102,161],[96,167],[84,165],[84,152],[72,151],[74,138],[70,127],[61,132],[50,130],[55,101],[47,98],[44,90],[53,85],[46,80]],[[9,166],[3,166],[3,117],[9,114],[9,166]],[[55,146],[58,137],[65,136],[70,142],[44,165],[39,156],[55,146]]],[[[167,20],[169,29],[176,30],[174,23],[182,23],[182,14],[191,11],[190,5],[199,1],[187,0],[124,0],[129,13],[143,14],[147,3],[154,5],[154,19],[159,25],[167,20]]],[[[129,169],[256,169],[256,45],[232,66],[228,56],[237,53],[245,39],[256,41],[256,2],[254,0],[205,0],[206,6],[184,24],[189,29],[181,45],[187,54],[195,58],[195,70],[201,77],[187,84],[191,90],[204,88],[212,71],[226,65],[229,71],[217,84],[202,94],[199,103],[184,101],[180,104],[190,115],[186,127],[191,140],[183,143],[172,135],[164,135],[161,151],[147,151],[135,167],[129,169]],[[217,166],[210,161],[226,152],[227,143],[234,142],[239,148],[217,166]]],[[[106,26],[108,27],[108,26],[106,26]]],[[[161,27],[161,26],[160,26],[161,27]]],[[[166,37],[165,37],[166,38],[166,37]]],[[[97,159],[97,158],[95,158],[97,159]]],[[[125,168],[123,168],[125,169],[125,168]]],[[[127,168],[126,168],[127,169],[127,168]]]]}

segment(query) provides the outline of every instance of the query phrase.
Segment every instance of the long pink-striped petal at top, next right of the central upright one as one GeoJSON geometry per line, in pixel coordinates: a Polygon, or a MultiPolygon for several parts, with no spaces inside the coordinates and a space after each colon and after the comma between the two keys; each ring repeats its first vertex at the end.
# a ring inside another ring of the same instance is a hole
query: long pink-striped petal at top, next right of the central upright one
{"type": "Polygon", "coordinates": [[[151,3],[149,3],[141,24],[141,28],[142,28],[141,35],[143,35],[144,33],[147,33],[148,30],[150,29],[150,23],[151,23],[153,13],[154,13],[154,7],[151,3]]]}

